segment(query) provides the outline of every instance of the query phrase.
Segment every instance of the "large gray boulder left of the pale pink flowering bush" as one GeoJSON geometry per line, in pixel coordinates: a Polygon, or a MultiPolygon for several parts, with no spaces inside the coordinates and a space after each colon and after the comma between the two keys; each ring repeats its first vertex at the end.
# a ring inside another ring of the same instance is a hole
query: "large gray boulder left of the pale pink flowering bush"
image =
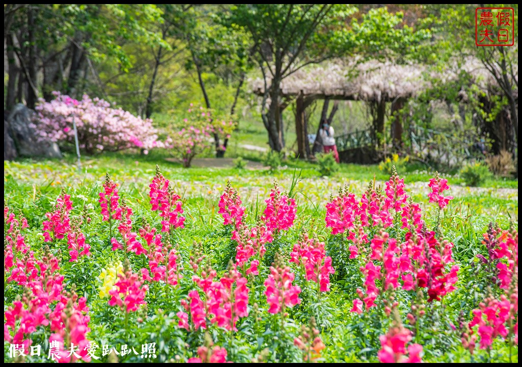
{"type": "Polygon", "coordinates": [[[62,158],[56,143],[40,141],[30,126],[35,112],[22,103],[14,106],[9,114],[9,133],[15,142],[18,155],[26,157],[62,158]]]}

